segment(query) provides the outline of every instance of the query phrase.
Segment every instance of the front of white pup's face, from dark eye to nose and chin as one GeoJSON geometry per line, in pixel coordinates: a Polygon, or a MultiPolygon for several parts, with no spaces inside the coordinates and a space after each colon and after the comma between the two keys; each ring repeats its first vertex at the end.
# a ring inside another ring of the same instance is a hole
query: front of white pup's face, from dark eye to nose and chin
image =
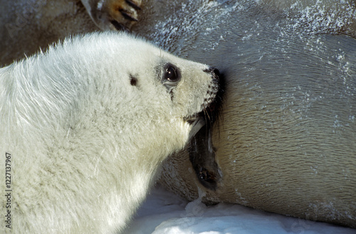
{"type": "Polygon", "coordinates": [[[206,109],[214,102],[219,91],[219,70],[198,63],[181,63],[160,65],[158,74],[172,103],[179,112],[185,112],[182,119],[192,126],[189,133],[191,139],[209,119],[206,109]],[[189,66],[192,67],[189,69],[189,66]],[[194,66],[201,67],[201,70],[194,66]],[[193,92],[194,89],[197,92],[193,92]]]}

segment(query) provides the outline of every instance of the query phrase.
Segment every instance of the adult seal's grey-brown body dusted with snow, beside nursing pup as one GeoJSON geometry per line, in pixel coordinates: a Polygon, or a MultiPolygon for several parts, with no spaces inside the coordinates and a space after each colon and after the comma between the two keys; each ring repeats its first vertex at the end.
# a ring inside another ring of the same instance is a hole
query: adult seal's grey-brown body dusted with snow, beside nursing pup
{"type": "Polygon", "coordinates": [[[356,228],[355,5],[271,2],[147,3],[135,32],[226,79],[219,119],[162,184],[356,228]]]}

